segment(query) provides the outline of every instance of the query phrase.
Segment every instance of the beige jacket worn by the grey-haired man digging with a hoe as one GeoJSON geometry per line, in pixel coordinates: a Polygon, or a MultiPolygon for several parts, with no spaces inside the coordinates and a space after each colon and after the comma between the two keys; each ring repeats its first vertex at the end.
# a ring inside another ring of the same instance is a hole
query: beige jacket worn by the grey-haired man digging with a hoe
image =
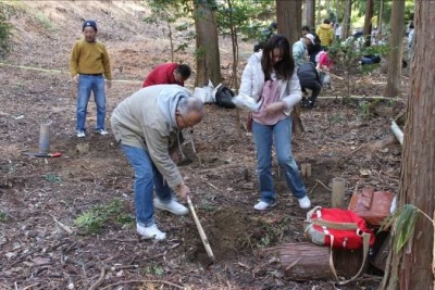
{"type": "Polygon", "coordinates": [[[175,110],[179,99],[185,97],[190,97],[190,92],[177,85],[146,87],[122,101],[111,118],[116,141],[145,148],[172,188],[183,184],[169,148],[178,140],[175,110]]]}

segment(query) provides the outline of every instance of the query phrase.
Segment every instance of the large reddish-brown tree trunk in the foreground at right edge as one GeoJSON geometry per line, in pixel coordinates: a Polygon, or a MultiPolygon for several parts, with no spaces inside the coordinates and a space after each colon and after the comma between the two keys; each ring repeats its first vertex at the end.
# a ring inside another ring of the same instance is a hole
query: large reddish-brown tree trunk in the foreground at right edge
{"type": "MultiPolygon", "coordinates": [[[[394,1],[401,2],[401,1],[394,1]]],[[[411,62],[410,96],[398,206],[414,204],[433,218],[435,210],[435,2],[415,1],[415,54],[411,62]]],[[[393,14],[394,15],[394,14],[393,14]]],[[[395,26],[393,26],[395,27],[395,26]]],[[[397,235],[393,240],[397,241],[397,235]]],[[[434,228],[421,215],[414,235],[399,253],[390,251],[382,289],[434,290],[434,228]]]]}

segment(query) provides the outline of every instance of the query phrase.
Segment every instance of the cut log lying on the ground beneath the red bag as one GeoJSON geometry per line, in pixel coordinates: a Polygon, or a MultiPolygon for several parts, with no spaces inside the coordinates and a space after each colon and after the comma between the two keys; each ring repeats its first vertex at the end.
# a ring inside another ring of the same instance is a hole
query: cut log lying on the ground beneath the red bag
{"type": "MultiPolygon", "coordinates": [[[[334,265],[338,277],[350,278],[361,267],[362,250],[333,249],[334,265]]],[[[293,280],[334,279],[330,266],[330,248],[311,242],[286,243],[279,247],[284,275],[293,280]]]]}

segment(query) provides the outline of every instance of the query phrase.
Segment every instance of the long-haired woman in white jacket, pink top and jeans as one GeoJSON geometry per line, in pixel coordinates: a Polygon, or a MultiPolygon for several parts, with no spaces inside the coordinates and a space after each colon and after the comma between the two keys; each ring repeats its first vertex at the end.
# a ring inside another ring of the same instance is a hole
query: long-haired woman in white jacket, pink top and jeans
{"type": "Polygon", "coordinates": [[[301,100],[299,79],[288,40],[271,37],[263,51],[252,54],[241,75],[239,92],[261,102],[253,112],[252,134],[257,151],[257,172],[261,199],[253,206],[264,211],[276,204],[272,178],[272,142],[287,185],[301,209],[311,206],[298,166],[291,155],[293,106],[301,100]]]}

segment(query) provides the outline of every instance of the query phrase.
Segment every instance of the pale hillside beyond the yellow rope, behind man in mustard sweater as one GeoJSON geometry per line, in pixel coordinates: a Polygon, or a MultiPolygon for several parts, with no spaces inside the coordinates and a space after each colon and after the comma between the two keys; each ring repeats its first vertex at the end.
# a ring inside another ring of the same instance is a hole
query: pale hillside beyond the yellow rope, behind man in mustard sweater
{"type": "MultiPolygon", "coordinates": [[[[4,62],[67,71],[70,53],[83,37],[84,20],[96,20],[98,39],[105,43],[115,78],[140,80],[153,65],[170,61],[162,26],[146,24],[142,1],[7,1],[14,25],[14,49],[4,62]]],[[[175,41],[177,35],[175,35],[175,41]]],[[[183,35],[178,34],[178,39],[183,35]]],[[[177,59],[192,62],[189,53],[177,59]]]]}

